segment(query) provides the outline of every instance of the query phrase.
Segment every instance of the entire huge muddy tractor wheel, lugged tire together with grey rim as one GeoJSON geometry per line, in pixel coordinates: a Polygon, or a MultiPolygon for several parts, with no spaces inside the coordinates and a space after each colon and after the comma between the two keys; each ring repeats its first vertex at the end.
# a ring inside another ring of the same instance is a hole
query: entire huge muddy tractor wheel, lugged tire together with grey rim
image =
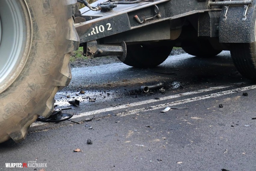
{"type": "Polygon", "coordinates": [[[53,112],[54,95],[71,80],[78,48],[76,0],[0,1],[0,142],[23,140],[53,112]]]}

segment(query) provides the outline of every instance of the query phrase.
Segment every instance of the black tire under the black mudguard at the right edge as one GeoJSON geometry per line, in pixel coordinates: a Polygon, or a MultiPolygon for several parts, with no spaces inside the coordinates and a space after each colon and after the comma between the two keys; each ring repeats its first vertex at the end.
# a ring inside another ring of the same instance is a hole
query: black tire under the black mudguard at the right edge
{"type": "Polygon", "coordinates": [[[256,42],[234,43],[230,53],[238,72],[248,79],[256,80],[256,42]]]}

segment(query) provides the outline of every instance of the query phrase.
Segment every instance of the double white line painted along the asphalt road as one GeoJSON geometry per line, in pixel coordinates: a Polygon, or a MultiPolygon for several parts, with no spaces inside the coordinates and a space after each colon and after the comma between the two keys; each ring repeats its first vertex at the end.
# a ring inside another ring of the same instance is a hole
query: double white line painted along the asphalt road
{"type": "MultiPolygon", "coordinates": [[[[123,105],[120,105],[120,106],[117,106],[117,107],[108,107],[108,108],[105,108],[105,109],[99,109],[99,110],[93,110],[93,111],[89,111],[89,112],[84,112],[84,113],[79,113],[78,115],[74,115],[72,117],[72,119],[74,118],[79,118],[79,117],[84,117],[84,116],[89,116],[89,115],[94,115],[94,114],[98,114],[98,113],[103,113],[103,112],[109,112],[109,111],[114,111],[114,110],[118,110],[118,109],[124,109],[124,108],[128,108],[128,107],[135,107],[135,106],[139,106],[139,105],[143,105],[143,104],[149,104],[149,103],[153,103],[153,102],[159,102],[159,101],[164,101],[164,100],[169,100],[169,99],[173,99],[173,98],[178,98],[178,97],[184,97],[184,96],[187,96],[187,95],[194,95],[194,94],[198,94],[198,93],[201,93],[201,92],[209,92],[209,91],[212,91],[212,90],[218,90],[218,89],[223,89],[223,88],[227,88],[229,86],[217,86],[217,87],[211,87],[211,88],[207,88],[207,89],[201,89],[201,90],[197,90],[197,91],[193,91],[193,92],[185,92],[185,93],[181,93],[181,94],[176,94],[176,95],[170,95],[170,96],[166,96],[166,97],[161,97],[159,98],[158,100],[155,100],[155,99],[151,99],[151,100],[145,100],[145,101],[139,101],[139,102],[134,102],[134,103],[131,103],[129,105],[127,104],[123,104],[123,105]]],[[[243,89],[242,91],[244,91],[244,89],[246,90],[246,88],[248,89],[255,89],[256,88],[256,85],[253,85],[253,86],[248,86],[248,87],[244,87],[244,88],[241,88],[243,89]],[[253,88],[252,88],[253,87],[253,88]]],[[[239,91],[240,89],[233,89],[233,90],[230,90],[230,91],[225,91],[225,92],[231,92],[232,91],[239,91]]],[[[225,95],[223,93],[225,92],[219,92],[219,93],[215,93],[215,94],[219,94],[219,95],[225,95]]],[[[228,93],[230,94],[230,93],[228,93]]],[[[211,97],[214,97],[214,94],[211,94],[211,95],[205,95],[204,96],[199,96],[199,97],[195,97],[195,98],[189,98],[189,99],[185,99],[185,100],[181,100],[181,101],[175,101],[175,102],[171,102],[174,106],[174,105],[178,105],[178,104],[183,104],[183,103],[188,103],[188,102],[192,102],[193,99],[194,101],[197,101],[197,100],[202,100],[202,99],[206,99],[206,98],[211,98],[211,97]],[[179,102],[179,103],[177,103],[179,102]],[[177,104],[176,104],[177,103],[177,104]]],[[[217,97],[217,96],[216,96],[217,97]]],[[[154,109],[152,110],[155,110],[155,109],[159,109],[165,105],[168,105],[168,104],[171,104],[171,103],[166,103],[166,104],[159,104],[159,105],[156,105],[156,106],[152,106],[154,109]]],[[[138,112],[138,111],[141,111],[141,110],[145,110],[145,108],[141,108],[141,109],[136,109],[136,110],[131,110],[131,111],[127,111],[125,113],[129,113],[129,114],[132,114],[133,112],[138,112]]],[[[119,113],[121,114],[121,113],[119,113]]],[[[123,114],[123,113],[122,113],[123,114]]],[[[39,125],[44,125],[46,123],[32,123],[32,125],[30,127],[33,127],[33,126],[39,126],[39,125]]]]}

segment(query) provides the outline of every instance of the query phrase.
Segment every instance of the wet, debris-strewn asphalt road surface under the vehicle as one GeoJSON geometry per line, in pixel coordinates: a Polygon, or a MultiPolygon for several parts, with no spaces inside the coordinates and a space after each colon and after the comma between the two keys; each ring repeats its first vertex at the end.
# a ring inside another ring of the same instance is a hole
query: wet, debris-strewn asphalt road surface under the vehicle
{"type": "Polygon", "coordinates": [[[24,141],[0,144],[0,170],[256,170],[256,85],[237,72],[228,51],[176,55],[157,68],[116,63],[72,74],[56,95],[58,108],[72,107],[65,111],[72,119],[33,123],[24,141]],[[140,91],[157,82],[164,92],[140,91]],[[166,107],[173,109],[161,113],[166,107]]]}

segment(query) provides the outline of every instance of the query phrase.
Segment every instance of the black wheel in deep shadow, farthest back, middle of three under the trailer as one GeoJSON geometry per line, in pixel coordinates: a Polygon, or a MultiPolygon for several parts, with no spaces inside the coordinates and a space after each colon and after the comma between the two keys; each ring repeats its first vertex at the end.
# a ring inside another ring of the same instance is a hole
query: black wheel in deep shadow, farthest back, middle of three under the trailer
{"type": "Polygon", "coordinates": [[[198,39],[197,42],[190,42],[188,46],[184,46],[182,49],[186,53],[198,57],[213,57],[222,51],[214,49],[209,41],[204,39],[198,39]]]}

